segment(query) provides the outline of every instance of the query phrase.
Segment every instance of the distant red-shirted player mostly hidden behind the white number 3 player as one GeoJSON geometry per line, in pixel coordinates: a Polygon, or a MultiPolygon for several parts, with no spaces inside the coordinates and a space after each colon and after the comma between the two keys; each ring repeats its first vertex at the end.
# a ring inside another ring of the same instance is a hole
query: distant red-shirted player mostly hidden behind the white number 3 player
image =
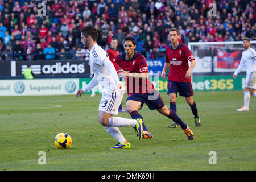
{"type": "MultiPolygon", "coordinates": [[[[119,65],[115,63],[115,57],[119,55],[119,51],[117,50],[117,45],[118,45],[117,38],[113,37],[110,42],[110,48],[106,50],[109,56],[109,60],[113,63],[116,71],[120,69],[119,65]]],[[[120,77],[119,74],[118,74],[118,77],[119,77],[119,80],[122,81],[122,77],[120,77]]],[[[127,112],[127,110],[122,107],[122,102],[118,108],[118,112],[127,112]]]]}

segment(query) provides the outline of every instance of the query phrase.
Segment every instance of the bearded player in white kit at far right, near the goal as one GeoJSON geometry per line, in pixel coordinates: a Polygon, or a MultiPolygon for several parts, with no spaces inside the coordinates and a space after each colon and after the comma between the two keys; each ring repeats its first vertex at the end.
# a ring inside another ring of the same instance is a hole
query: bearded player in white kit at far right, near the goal
{"type": "Polygon", "coordinates": [[[240,64],[233,74],[233,78],[236,78],[242,68],[246,68],[245,88],[243,89],[244,105],[237,111],[249,111],[250,93],[252,96],[256,96],[256,51],[250,47],[249,38],[243,38],[243,48],[245,48],[245,51],[242,53],[240,64]]]}

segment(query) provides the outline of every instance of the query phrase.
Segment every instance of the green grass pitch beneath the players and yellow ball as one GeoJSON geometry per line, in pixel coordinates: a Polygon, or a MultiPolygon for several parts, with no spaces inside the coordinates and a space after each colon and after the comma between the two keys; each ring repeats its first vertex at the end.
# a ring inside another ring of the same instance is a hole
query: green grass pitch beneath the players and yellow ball
{"type": "MultiPolygon", "coordinates": [[[[160,94],[169,107],[167,94],[160,94]]],[[[121,127],[131,143],[129,150],[109,150],[118,142],[97,121],[100,98],[101,94],[0,97],[0,170],[256,169],[256,98],[251,96],[249,112],[236,111],[243,105],[242,90],[195,92],[199,128],[184,98],[177,97],[177,114],[195,134],[192,141],[180,127],[168,129],[170,119],[144,105],[139,113],[154,138],[139,141],[132,127],[121,127]],[[54,146],[61,132],[72,137],[67,150],[54,146]],[[39,151],[46,152],[46,164],[38,164],[39,151]],[[210,151],[216,152],[217,164],[209,164],[210,151]]],[[[119,117],[131,118],[128,113],[119,117]]]]}

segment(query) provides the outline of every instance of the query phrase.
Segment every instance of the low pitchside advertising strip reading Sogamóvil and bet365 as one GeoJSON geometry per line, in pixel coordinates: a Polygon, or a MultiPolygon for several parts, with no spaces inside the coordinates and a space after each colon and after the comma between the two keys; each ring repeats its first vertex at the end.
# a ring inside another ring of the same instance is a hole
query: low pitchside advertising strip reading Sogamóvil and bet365
{"type": "MultiPolygon", "coordinates": [[[[84,88],[91,78],[65,79],[34,79],[34,80],[0,80],[0,96],[47,96],[76,94],[77,89],[84,88]]],[[[166,80],[160,77],[150,77],[159,92],[167,92],[166,80]]],[[[125,81],[122,81],[126,85],[125,81]]],[[[201,76],[193,77],[193,90],[242,90],[245,84],[245,75],[232,76],[201,76]]],[[[96,86],[96,93],[101,93],[100,86],[96,86]]],[[[92,93],[91,91],[87,93],[92,93]]]]}

